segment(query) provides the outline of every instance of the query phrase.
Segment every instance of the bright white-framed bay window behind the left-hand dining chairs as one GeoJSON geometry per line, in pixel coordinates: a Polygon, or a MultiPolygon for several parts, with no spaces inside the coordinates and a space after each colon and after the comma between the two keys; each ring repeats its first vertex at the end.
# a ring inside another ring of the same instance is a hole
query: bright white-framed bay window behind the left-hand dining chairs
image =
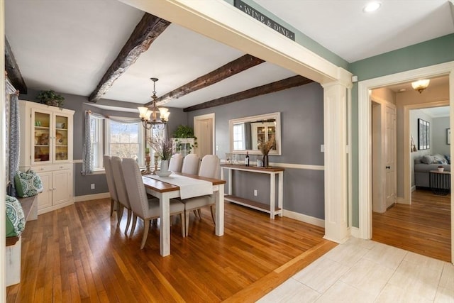
{"type": "Polygon", "coordinates": [[[90,126],[94,170],[103,168],[103,155],[134,158],[140,166],[145,165],[145,142],[141,121],[127,118],[99,119],[92,116],[90,126]]]}

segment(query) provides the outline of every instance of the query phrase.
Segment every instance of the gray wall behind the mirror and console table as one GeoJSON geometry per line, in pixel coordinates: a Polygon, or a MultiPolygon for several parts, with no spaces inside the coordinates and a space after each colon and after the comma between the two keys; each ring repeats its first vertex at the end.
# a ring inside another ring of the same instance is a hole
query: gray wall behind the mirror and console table
{"type": "MultiPolygon", "coordinates": [[[[270,162],[296,165],[323,165],[323,89],[318,83],[286,89],[265,96],[254,97],[211,109],[191,111],[188,123],[194,116],[215,114],[216,154],[225,159],[229,153],[228,120],[245,116],[281,113],[282,155],[270,155],[270,162]]],[[[242,156],[244,158],[244,155],[242,156]]],[[[255,161],[257,156],[251,155],[255,161]]],[[[267,175],[236,172],[234,194],[258,202],[270,197],[270,180],[267,175]],[[258,196],[253,196],[253,190],[258,196]]],[[[324,219],[323,170],[286,168],[284,172],[284,209],[324,219]]]]}

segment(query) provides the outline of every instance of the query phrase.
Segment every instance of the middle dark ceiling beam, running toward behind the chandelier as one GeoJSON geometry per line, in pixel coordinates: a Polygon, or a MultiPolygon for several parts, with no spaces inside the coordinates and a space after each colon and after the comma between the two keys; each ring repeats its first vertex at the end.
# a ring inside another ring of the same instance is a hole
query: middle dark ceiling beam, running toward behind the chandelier
{"type": "MultiPolygon", "coordinates": [[[[197,79],[184,84],[182,87],[178,87],[177,89],[172,90],[161,96],[157,99],[158,104],[165,104],[165,101],[170,99],[178,99],[179,97],[184,96],[185,94],[189,94],[191,92],[195,92],[196,90],[203,89],[205,87],[209,87],[223,79],[231,77],[233,75],[238,74],[238,72],[243,72],[243,70],[248,70],[250,67],[254,67],[255,65],[259,65],[260,63],[264,62],[263,60],[259,59],[258,57],[254,57],[252,55],[243,55],[236,60],[228,62],[226,65],[223,65],[216,70],[209,72],[206,75],[198,77],[197,79]]],[[[148,102],[145,106],[150,105],[152,102],[148,102]]]]}

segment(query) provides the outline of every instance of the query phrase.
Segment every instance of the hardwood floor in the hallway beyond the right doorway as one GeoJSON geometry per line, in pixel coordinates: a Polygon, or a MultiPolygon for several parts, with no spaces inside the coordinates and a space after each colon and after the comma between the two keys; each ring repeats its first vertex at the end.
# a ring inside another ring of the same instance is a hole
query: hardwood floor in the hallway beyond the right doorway
{"type": "Polygon", "coordinates": [[[372,240],[450,262],[450,194],[417,189],[411,200],[373,213],[372,240]]]}

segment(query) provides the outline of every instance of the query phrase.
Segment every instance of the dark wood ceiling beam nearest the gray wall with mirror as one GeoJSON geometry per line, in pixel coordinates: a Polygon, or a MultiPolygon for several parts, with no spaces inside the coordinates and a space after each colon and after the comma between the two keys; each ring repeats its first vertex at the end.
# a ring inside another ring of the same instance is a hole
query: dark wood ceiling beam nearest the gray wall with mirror
{"type": "Polygon", "coordinates": [[[254,87],[253,89],[248,89],[243,92],[238,92],[236,94],[231,94],[226,97],[221,97],[218,99],[214,99],[211,101],[206,101],[201,104],[197,104],[194,106],[189,106],[183,111],[196,111],[198,109],[208,109],[210,107],[214,106],[220,106],[224,104],[229,104],[235,101],[240,101],[243,99],[249,99],[252,97],[257,97],[262,94],[270,94],[272,92],[279,92],[284,89],[289,89],[291,87],[299,87],[300,85],[308,84],[314,82],[311,79],[307,79],[302,76],[294,76],[294,77],[289,77],[287,79],[279,80],[277,82],[272,82],[270,84],[265,84],[260,87],[254,87]]]}

